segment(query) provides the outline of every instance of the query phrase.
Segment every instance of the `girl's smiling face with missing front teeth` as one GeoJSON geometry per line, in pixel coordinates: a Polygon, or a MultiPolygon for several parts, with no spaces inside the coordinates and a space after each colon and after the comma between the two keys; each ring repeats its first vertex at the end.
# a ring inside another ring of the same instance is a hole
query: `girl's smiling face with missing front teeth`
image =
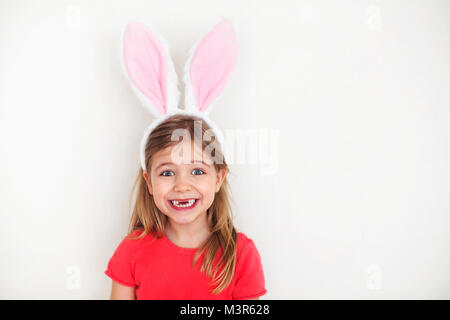
{"type": "Polygon", "coordinates": [[[150,174],[144,172],[144,179],[158,209],[171,223],[186,225],[206,217],[225,173],[223,169],[219,172],[215,169],[200,146],[182,141],[155,153],[150,174]],[[180,208],[182,200],[191,201],[180,208]],[[189,206],[193,200],[194,204],[189,206]]]}

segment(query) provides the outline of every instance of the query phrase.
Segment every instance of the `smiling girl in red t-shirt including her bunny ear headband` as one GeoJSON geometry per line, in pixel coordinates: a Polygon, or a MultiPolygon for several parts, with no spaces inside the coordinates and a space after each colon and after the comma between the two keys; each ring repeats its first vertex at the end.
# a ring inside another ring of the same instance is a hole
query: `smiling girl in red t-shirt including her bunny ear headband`
{"type": "Polygon", "coordinates": [[[175,80],[161,38],[139,23],[125,30],[126,74],[159,118],[141,143],[128,235],[105,271],[111,299],[257,299],[267,292],[254,242],[233,225],[223,138],[207,116],[234,65],[235,40],[224,21],[197,44],[186,67],[184,111],[167,89],[175,80]],[[179,132],[181,141],[174,139],[179,132]]]}

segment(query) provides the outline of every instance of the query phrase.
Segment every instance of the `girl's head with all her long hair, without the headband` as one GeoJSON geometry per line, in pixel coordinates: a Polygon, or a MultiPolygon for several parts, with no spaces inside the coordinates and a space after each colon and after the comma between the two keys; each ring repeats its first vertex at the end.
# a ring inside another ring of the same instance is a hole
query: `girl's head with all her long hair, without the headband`
{"type": "Polygon", "coordinates": [[[138,191],[129,232],[144,229],[142,236],[151,233],[160,238],[168,224],[185,226],[206,219],[211,236],[197,251],[193,265],[205,251],[201,270],[216,277],[219,285],[213,292],[222,291],[234,274],[237,235],[229,202],[229,169],[211,128],[193,116],[170,117],[151,132],[145,162],[147,171],[141,168],[136,179],[138,191]],[[181,141],[174,139],[180,132],[181,141]],[[190,199],[196,201],[195,206],[182,213],[171,202],[190,199]],[[213,266],[219,250],[223,263],[213,266]]]}

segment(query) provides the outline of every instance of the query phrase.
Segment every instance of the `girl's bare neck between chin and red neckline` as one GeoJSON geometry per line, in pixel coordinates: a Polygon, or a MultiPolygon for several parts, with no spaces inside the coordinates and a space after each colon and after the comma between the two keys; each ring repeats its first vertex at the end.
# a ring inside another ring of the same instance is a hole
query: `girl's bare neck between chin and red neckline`
{"type": "Polygon", "coordinates": [[[165,234],[175,245],[182,248],[199,248],[212,234],[207,223],[206,213],[189,225],[178,225],[167,221],[165,234]]]}

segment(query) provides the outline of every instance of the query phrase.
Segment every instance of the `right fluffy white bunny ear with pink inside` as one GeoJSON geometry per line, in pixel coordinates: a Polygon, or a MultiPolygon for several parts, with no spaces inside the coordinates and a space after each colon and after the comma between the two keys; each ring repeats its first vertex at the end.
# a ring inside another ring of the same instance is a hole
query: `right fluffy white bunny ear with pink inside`
{"type": "Polygon", "coordinates": [[[185,109],[209,114],[222,95],[237,60],[237,38],[227,19],[190,51],[184,68],[185,109]]]}

